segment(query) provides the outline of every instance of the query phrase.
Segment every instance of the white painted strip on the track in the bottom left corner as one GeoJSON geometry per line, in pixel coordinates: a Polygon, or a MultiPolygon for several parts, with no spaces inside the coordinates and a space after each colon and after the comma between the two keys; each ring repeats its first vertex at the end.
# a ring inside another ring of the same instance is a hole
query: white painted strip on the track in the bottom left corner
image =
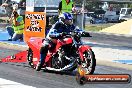
{"type": "Polygon", "coordinates": [[[32,87],[32,86],[28,86],[28,85],[24,85],[21,83],[0,78],[0,88],[36,88],[36,87],[32,87]]]}

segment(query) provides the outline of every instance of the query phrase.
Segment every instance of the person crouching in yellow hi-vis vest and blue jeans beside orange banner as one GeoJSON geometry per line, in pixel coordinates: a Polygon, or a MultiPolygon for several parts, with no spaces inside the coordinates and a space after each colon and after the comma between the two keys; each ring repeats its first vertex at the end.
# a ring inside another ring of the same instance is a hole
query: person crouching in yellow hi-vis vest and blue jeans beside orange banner
{"type": "Polygon", "coordinates": [[[8,41],[16,41],[23,39],[24,21],[23,17],[20,16],[16,11],[13,12],[13,17],[10,18],[12,26],[7,27],[7,31],[10,35],[8,41]]]}

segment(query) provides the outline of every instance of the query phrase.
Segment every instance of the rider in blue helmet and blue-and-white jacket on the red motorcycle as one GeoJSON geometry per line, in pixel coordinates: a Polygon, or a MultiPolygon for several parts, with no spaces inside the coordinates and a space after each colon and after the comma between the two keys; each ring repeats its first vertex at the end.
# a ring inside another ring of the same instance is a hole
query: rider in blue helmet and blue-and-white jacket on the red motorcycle
{"type": "Polygon", "coordinates": [[[83,30],[80,30],[79,27],[73,24],[73,16],[70,13],[65,12],[61,14],[59,17],[59,21],[57,21],[52,26],[45,40],[43,41],[42,47],[40,49],[40,61],[36,67],[37,71],[40,71],[41,67],[45,63],[45,58],[48,50],[56,44],[57,39],[53,39],[53,37],[60,38],[64,33],[70,33],[73,30],[83,32],[83,30]]]}

